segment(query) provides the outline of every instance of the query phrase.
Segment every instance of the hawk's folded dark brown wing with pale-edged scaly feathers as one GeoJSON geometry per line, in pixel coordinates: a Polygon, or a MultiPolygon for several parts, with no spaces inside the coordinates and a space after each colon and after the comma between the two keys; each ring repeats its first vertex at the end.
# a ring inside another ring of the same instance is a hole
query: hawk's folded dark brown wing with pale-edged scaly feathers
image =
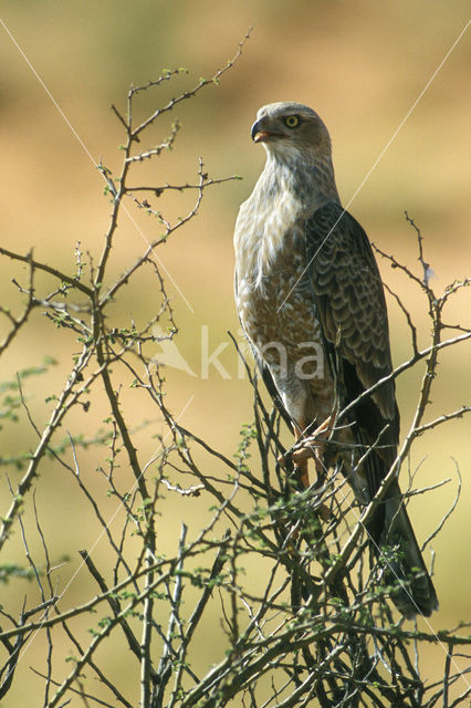
{"type": "MultiPolygon", "coordinates": [[[[317,209],[307,220],[306,242],[313,296],[343,404],[347,405],[391,372],[379,270],[364,229],[334,201],[317,209]]],[[[394,381],[357,405],[354,417],[356,436],[365,445],[373,445],[387,426],[378,450],[383,462],[375,464],[375,456],[370,456],[367,465],[368,483],[374,493],[385,464],[394,459],[399,436],[394,381]]]]}

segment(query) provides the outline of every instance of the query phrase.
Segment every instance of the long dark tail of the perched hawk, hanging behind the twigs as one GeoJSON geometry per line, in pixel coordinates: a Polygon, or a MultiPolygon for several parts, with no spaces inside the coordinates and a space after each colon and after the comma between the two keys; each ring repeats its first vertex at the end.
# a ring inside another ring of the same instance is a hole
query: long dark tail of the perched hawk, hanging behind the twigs
{"type": "Polygon", "coordinates": [[[389,489],[385,504],[385,532],[380,540],[387,559],[386,581],[396,586],[391,598],[408,620],[438,610],[437,593],[420,553],[399,486],[389,489]]]}

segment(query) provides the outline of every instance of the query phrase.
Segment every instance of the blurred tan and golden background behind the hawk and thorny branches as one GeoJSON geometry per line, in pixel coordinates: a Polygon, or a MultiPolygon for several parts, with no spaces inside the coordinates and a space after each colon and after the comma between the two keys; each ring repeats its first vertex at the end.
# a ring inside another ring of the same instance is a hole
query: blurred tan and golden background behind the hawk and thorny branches
{"type": "MultiPolygon", "coordinates": [[[[159,143],[168,135],[172,119],[181,122],[175,149],[136,167],[129,183],[158,186],[196,181],[199,156],[211,177],[243,178],[207,190],[198,217],[159,250],[178,285],[169,283],[181,330],[178,348],[196,374],[168,369],[168,405],[176,416],[184,410],[181,423],[186,427],[230,456],[237,449],[242,424],[252,420],[251,392],[248,382],[238,376],[227,331],[239,336],[232,294],[233,225],[239,205],[250,194],[264,162],[261,146],[250,140],[257,111],[266,103],[286,100],[315,108],[331,132],[344,204],[355,195],[349,211],[369,238],[420,275],[415,232],[404,218],[407,209],[421,228],[426,260],[435,273],[431,284],[441,293],[453,280],[469,275],[470,267],[469,31],[398,128],[464,29],[468,13],[469,3],[461,0],[432,4],[428,0],[389,4],[374,0],[4,0],[0,13],[4,23],[0,25],[1,246],[22,253],[34,249],[35,258],[69,272],[74,272],[74,247],[78,241],[82,250],[96,259],[111,208],[94,163],[102,159],[118,171],[123,155],[118,148],[125,139],[109,105],[124,110],[132,83],[155,80],[163,69],[188,67],[188,76],[181,75],[144,97],[144,117],[146,111],[164,105],[195,85],[200,76],[208,79],[222,67],[249,27],[253,27],[242,56],[222,77],[220,86],[205,88],[155,127],[153,139],[159,143]],[[208,376],[201,372],[205,346],[209,353],[222,346],[218,355],[220,367],[210,366],[208,376]]],[[[151,142],[146,147],[151,147],[151,142]]],[[[193,201],[195,194],[177,192],[166,197],[158,208],[175,220],[185,216],[193,201]]],[[[155,239],[158,223],[144,218],[130,200],[127,207],[145,238],[155,239]]],[[[139,231],[123,217],[109,278],[129,266],[145,246],[139,231]]],[[[384,279],[400,293],[414,315],[419,344],[427,345],[430,327],[425,298],[387,263],[379,266],[384,279]]],[[[11,279],[24,279],[25,271],[6,258],[0,268],[1,302],[18,312],[22,298],[11,279]]],[[[144,322],[158,302],[154,281],[145,279],[122,295],[113,315],[117,326],[127,326],[130,317],[144,322]]],[[[410,337],[404,315],[390,298],[388,306],[393,355],[398,364],[410,355],[410,337]]],[[[450,303],[444,320],[465,325],[469,312],[469,291],[464,291],[450,303]]],[[[71,342],[65,337],[64,343],[61,333],[38,313],[0,361],[3,381],[14,378],[21,368],[39,364],[44,355],[57,360],[48,381],[38,378],[28,386],[29,404],[39,421],[46,419],[44,397],[61,389],[73,351],[71,342]]],[[[427,419],[469,403],[470,347],[446,351],[441,361],[427,419]]],[[[404,433],[416,407],[420,374],[420,369],[410,372],[398,382],[404,433]]],[[[98,400],[88,418],[72,418],[70,431],[84,431],[92,437],[107,415],[106,406],[100,406],[98,400]]],[[[139,408],[139,413],[155,418],[155,431],[164,430],[158,412],[149,406],[139,408]]],[[[2,454],[33,445],[34,435],[27,421],[14,436],[7,428],[2,433],[2,454]]],[[[142,436],[143,457],[148,457],[156,446],[146,435],[142,436]]],[[[411,514],[420,540],[438,525],[454,498],[457,466],[463,475],[460,504],[432,544],[440,612],[431,617],[430,626],[425,626],[428,631],[451,627],[469,614],[465,551],[471,541],[467,473],[470,437],[469,420],[441,427],[436,435],[419,441],[409,469],[402,470],[404,486],[408,473],[417,468],[417,487],[452,480],[440,490],[412,500],[411,514]]],[[[90,458],[84,458],[85,464],[93,467],[90,458]]],[[[14,470],[0,470],[2,510],[10,503],[7,471],[13,483],[19,479],[14,470]]],[[[42,471],[38,485],[52,552],[73,558],[61,571],[62,589],[78,565],[76,550],[96,538],[96,529],[83,525],[74,489],[53,466],[42,471]]],[[[184,512],[180,499],[169,503],[175,504],[177,532],[182,514],[197,528],[190,503],[184,512]]],[[[168,537],[171,538],[170,531],[168,537]]],[[[20,538],[8,549],[8,553],[13,551],[18,553],[15,560],[24,562],[20,538]]],[[[98,544],[98,559],[100,552],[98,544]]],[[[13,560],[3,558],[2,562],[13,560]]],[[[2,589],[6,598],[14,593],[21,602],[23,593],[33,592],[32,586],[21,582],[23,585],[2,589]]],[[[81,574],[67,594],[63,608],[83,601],[81,574]]],[[[40,662],[35,652],[32,645],[24,665],[40,662]]],[[[443,658],[440,648],[426,655],[431,676],[439,674],[443,658]]],[[[211,657],[201,660],[208,665],[211,657]]],[[[30,676],[28,671],[27,675],[30,676]]],[[[28,705],[38,688],[34,683],[22,683],[15,690],[14,705],[20,706],[28,705]]]]}

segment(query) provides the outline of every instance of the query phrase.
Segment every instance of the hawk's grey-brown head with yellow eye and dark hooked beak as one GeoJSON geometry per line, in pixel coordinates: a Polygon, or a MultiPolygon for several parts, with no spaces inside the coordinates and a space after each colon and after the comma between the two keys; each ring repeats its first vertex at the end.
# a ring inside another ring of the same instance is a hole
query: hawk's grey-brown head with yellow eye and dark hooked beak
{"type": "Polygon", "coordinates": [[[300,153],[314,158],[329,157],[331,137],[317,113],[301,103],[270,103],[257,114],[252,140],[263,143],[269,153],[286,156],[300,153]]]}

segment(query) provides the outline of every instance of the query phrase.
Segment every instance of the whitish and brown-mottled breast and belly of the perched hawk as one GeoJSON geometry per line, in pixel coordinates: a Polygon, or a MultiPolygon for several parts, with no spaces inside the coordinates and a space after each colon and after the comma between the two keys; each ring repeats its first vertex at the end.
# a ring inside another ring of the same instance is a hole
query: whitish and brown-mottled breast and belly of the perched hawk
{"type": "Polygon", "coordinates": [[[286,219],[280,221],[279,216],[254,221],[241,209],[236,301],[255,354],[268,365],[289,414],[304,427],[305,421],[328,417],[334,386],[306,270],[302,225],[290,227],[286,230],[286,219]]]}

